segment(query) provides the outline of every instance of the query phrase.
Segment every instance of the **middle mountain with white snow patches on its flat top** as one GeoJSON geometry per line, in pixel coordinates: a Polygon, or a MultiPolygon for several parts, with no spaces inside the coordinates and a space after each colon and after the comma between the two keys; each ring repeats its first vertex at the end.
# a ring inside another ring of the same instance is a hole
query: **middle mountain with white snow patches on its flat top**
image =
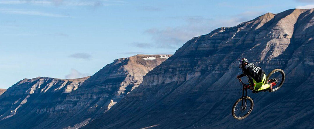
{"type": "Polygon", "coordinates": [[[65,119],[62,123],[74,125],[80,121],[81,123],[78,125],[68,126],[69,128],[77,128],[98,116],[102,116],[111,106],[120,102],[125,95],[138,87],[143,81],[143,76],[170,56],[136,55],[117,59],[106,65],[86,80],[85,84],[75,93],[70,93],[65,102],[60,104],[71,105],[71,108],[60,110],[62,113],[67,113],[67,117],[72,119],[70,121],[65,119]],[[71,114],[72,112],[75,114],[71,114]]]}

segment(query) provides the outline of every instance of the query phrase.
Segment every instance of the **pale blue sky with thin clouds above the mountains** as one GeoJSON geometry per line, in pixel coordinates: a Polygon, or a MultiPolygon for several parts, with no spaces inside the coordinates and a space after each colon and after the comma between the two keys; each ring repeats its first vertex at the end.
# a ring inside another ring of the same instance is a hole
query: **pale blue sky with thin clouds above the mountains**
{"type": "Polygon", "coordinates": [[[193,37],[291,8],[314,8],[314,0],[0,0],[0,88],[174,54],[193,37]]]}

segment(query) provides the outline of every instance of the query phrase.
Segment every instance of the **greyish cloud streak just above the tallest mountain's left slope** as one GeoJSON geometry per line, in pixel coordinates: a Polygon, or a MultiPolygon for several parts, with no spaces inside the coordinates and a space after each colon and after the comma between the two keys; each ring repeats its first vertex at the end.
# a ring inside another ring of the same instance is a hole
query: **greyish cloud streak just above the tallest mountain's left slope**
{"type": "MultiPolygon", "coordinates": [[[[192,37],[208,34],[218,27],[238,25],[241,22],[256,18],[265,12],[243,12],[228,19],[208,19],[202,16],[177,16],[170,17],[185,21],[184,25],[166,28],[150,28],[144,31],[152,38],[151,44],[137,44],[135,47],[145,48],[145,45],[154,48],[177,49],[192,37]]],[[[146,47],[146,48],[149,48],[146,47]]]]}

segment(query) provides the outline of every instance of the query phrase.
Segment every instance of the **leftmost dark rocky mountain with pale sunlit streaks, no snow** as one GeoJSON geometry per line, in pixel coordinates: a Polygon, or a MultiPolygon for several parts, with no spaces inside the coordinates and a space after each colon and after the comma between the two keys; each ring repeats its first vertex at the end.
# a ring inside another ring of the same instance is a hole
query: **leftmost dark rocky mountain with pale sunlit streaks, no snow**
{"type": "MultiPolygon", "coordinates": [[[[68,93],[75,91],[89,77],[79,79],[56,79],[37,77],[19,81],[0,96],[1,128],[15,128],[15,124],[30,121],[34,114],[53,112],[55,105],[65,99],[68,93]],[[10,121],[12,118],[12,121],[10,121]],[[4,123],[4,121],[7,121],[4,123]]],[[[34,125],[24,125],[34,126],[34,125]]],[[[18,127],[18,126],[16,126],[18,127]]]]}

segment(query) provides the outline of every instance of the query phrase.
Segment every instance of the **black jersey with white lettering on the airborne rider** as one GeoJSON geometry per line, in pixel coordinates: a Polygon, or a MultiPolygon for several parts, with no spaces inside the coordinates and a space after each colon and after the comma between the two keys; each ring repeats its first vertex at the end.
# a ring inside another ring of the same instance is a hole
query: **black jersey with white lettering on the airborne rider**
{"type": "Polygon", "coordinates": [[[261,67],[255,66],[253,63],[249,63],[242,68],[243,74],[240,76],[247,76],[249,81],[253,78],[256,82],[262,82],[263,76],[265,74],[261,67]]]}

